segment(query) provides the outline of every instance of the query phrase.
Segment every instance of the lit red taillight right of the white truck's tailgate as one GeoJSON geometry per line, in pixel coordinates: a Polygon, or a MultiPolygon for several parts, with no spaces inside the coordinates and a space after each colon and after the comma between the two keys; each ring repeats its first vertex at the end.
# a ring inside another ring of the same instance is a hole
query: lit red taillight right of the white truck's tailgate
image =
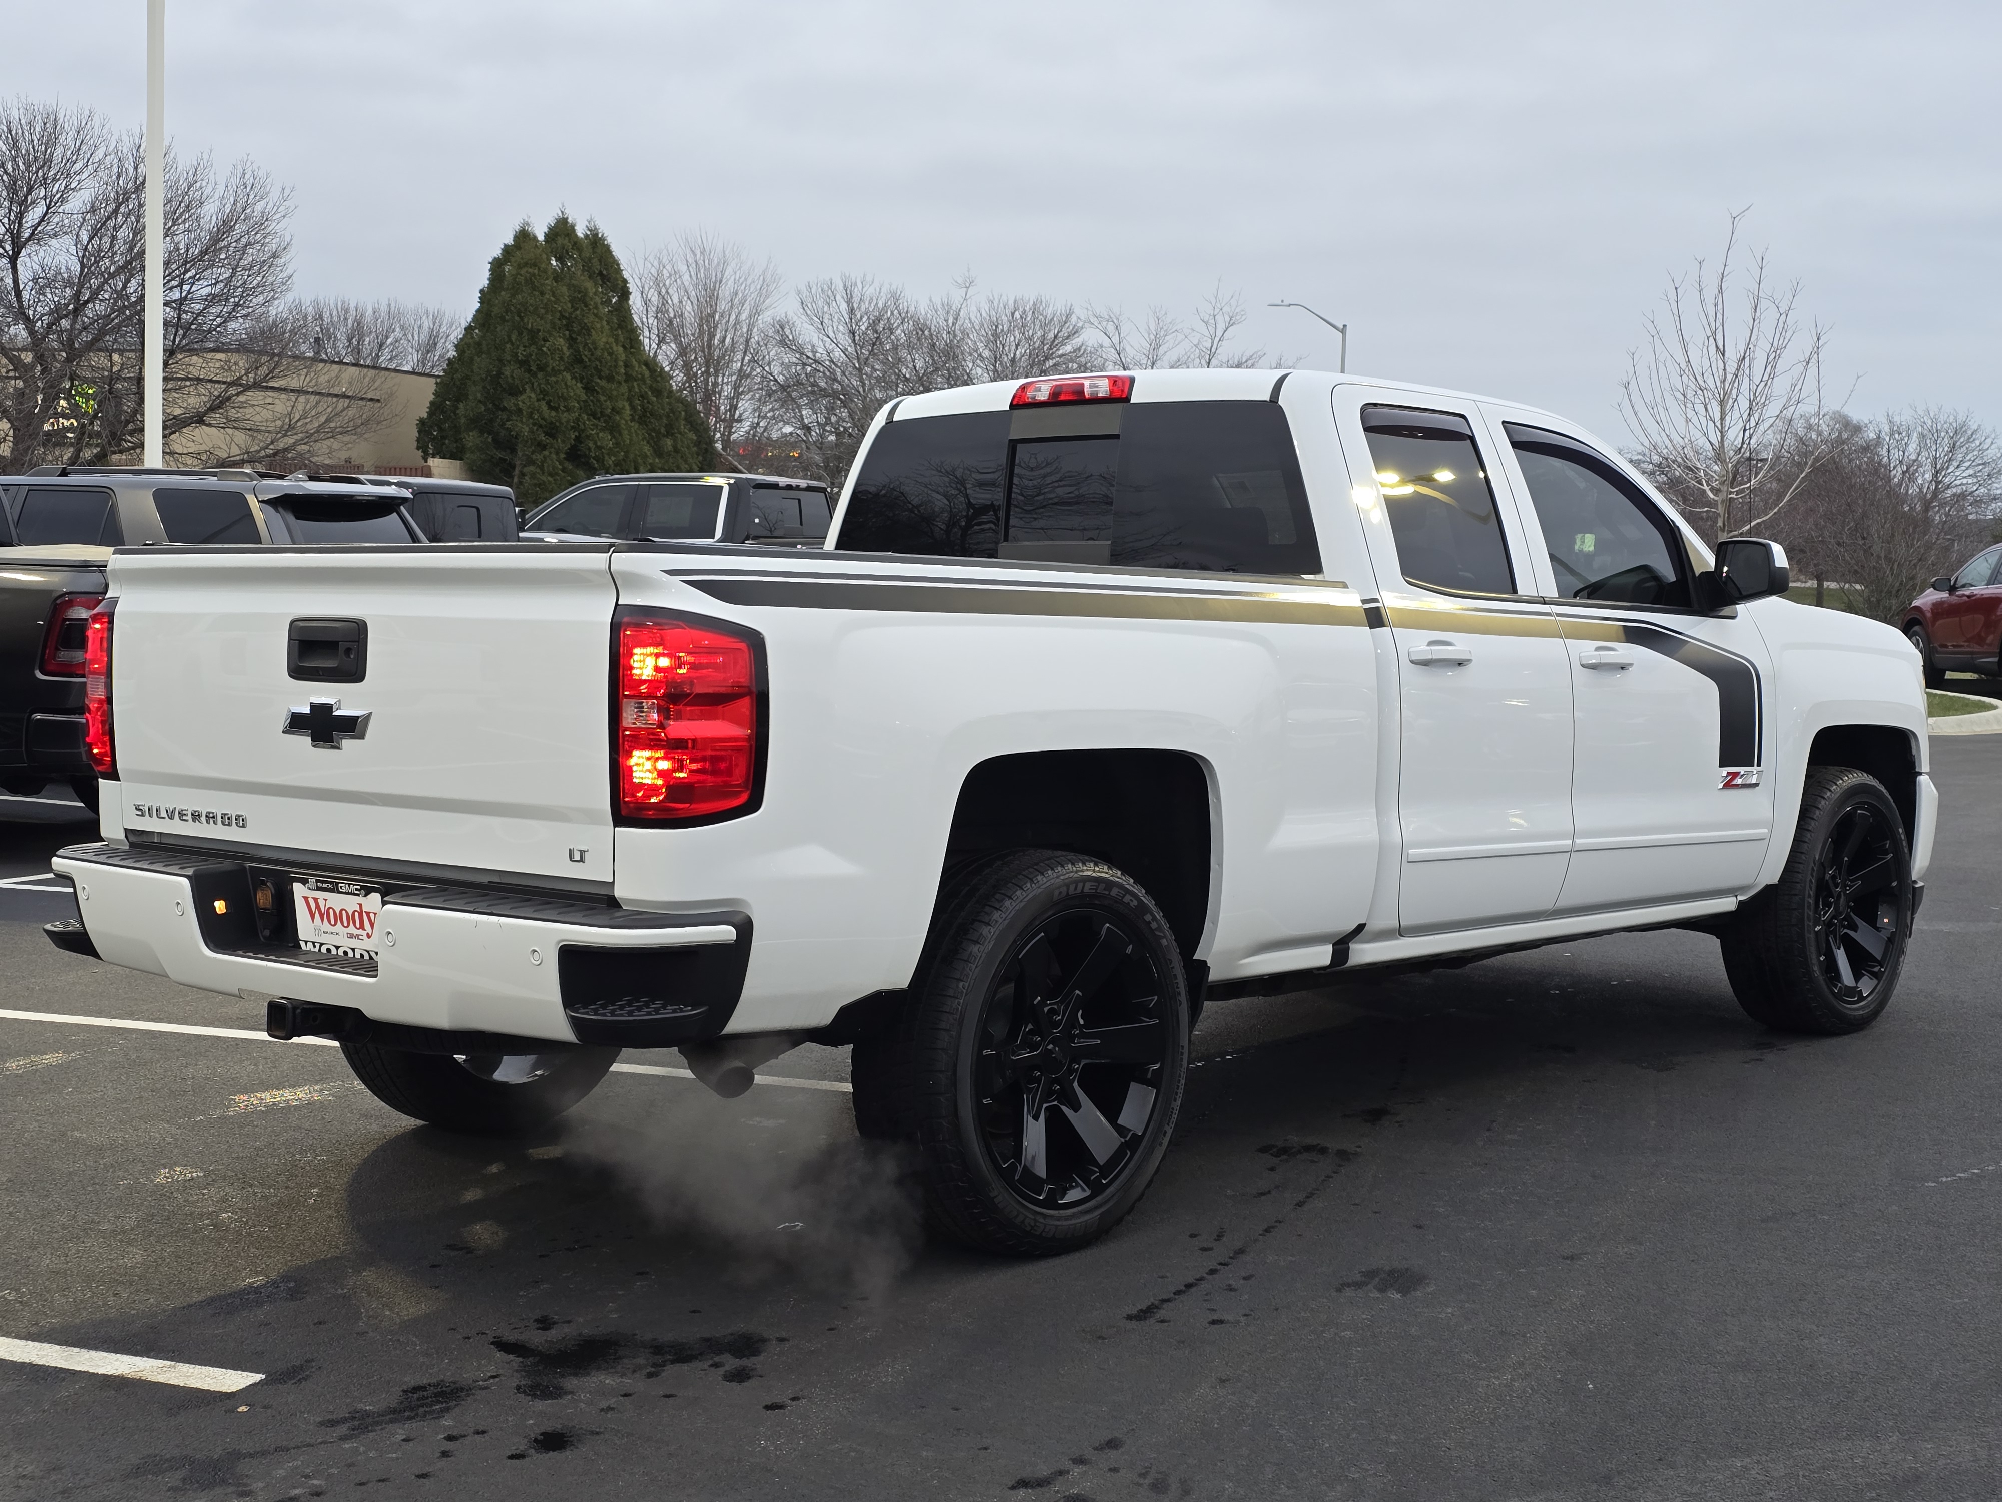
{"type": "Polygon", "coordinates": [[[619,623],[619,813],[695,819],[751,801],[757,655],[687,621],[619,623]]]}

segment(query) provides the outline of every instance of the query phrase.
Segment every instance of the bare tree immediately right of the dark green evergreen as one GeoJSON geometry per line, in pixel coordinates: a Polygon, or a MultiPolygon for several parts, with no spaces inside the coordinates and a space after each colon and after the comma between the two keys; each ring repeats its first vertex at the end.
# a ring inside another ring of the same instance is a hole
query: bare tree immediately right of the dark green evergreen
{"type": "MultiPolygon", "coordinates": [[[[639,256],[633,274],[641,338],[709,421],[717,451],[737,463],[759,427],[771,310],[783,280],[711,234],[683,234],[639,256]]],[[[741,465],[739,465],[741,469],[741,465]]]]}

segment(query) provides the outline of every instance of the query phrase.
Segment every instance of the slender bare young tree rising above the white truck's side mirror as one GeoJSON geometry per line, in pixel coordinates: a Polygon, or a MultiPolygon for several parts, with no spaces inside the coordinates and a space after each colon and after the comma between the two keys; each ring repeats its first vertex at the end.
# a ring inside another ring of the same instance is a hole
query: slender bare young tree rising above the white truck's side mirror
{"type": "Polygon", "coordinates": [[[1800,282],[1770,284],[1764,250],[1732,266],[1748,212],[1732,214],[1714,272],[1698,258],[1670,276],[1620,383],[1644,467],[1712,537],[1770,521],[1830,453],[1812,441],[1828,334],[1800,324],[1800,282]]]}

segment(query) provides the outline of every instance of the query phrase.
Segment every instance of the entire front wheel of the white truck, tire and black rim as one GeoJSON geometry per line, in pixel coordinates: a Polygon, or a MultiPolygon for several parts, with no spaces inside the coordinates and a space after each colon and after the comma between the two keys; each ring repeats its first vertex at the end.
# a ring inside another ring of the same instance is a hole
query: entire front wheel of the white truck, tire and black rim
{"type": "Polygon", "coordinates": [[[1724,929],[1724,973],[1754,1019],[1854,1033],[1884,1015],[1912,937],[1912,853],[1884,785],[1808,767],[1780,881],[1724,929]]]}

